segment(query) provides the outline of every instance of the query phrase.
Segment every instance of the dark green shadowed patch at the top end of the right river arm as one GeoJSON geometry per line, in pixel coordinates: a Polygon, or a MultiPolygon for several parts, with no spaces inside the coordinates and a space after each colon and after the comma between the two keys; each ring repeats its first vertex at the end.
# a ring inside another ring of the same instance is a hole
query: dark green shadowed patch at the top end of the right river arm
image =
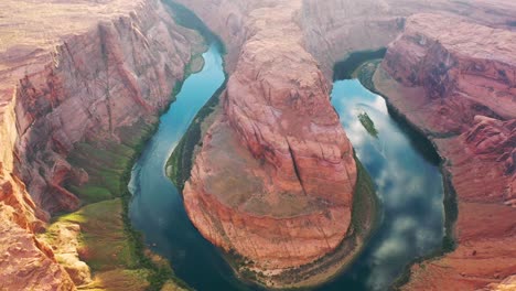
{"type": "Polygon", "coordinates": [[[384,47],[378,51],[363,51],[351,53],[344,61],[341,61],[333,66],[333,80],[353,78],[353,73],[362,64],[370,60],[383,58],[386,52],[387,48],[384,47]]]}

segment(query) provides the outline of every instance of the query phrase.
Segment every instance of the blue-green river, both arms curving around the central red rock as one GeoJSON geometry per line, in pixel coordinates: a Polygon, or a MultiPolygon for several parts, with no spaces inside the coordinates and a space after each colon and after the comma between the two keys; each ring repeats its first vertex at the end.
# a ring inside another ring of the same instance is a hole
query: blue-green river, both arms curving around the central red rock
{"type": "MultiPolygon", "coordinates": [[[[224,83],[221,50],[203,54],[204,68],[185,82],[157,133],[133,166],[129,188],[132,226],[146,244],[168,258],[181,279],[197,290],[250,290],[235,279],[218,250],[189,220],[178,188],[166,177],[166,160],[203,105],[224,83]]],[[[337,80],[332,103],[380,200],[379,230],[357,260],[318,290],[385,290],[415,258],[441,247],[443,185],[439,161],[419,146],[385,100],[358,80],[337,80]],[[366,112],[377,133],[358,119],[366,112]],[[369,130],[370,131],[370,130],[369,130]]]]}

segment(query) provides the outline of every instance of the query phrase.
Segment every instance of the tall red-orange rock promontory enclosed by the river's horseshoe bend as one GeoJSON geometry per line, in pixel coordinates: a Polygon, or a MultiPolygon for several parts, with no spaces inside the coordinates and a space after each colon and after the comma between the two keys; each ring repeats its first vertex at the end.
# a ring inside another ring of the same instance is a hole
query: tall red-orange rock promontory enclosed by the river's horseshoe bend
{"type": "Polygon", "coordinates": [[[250,12],[252,32],[208,130],[186,211],[200,231],[266,274],[310,263],[346,236],[353,150],[292,21],[300,2],[250,12]],[[275,230],[276,229],[276,230],[275,230]]]}

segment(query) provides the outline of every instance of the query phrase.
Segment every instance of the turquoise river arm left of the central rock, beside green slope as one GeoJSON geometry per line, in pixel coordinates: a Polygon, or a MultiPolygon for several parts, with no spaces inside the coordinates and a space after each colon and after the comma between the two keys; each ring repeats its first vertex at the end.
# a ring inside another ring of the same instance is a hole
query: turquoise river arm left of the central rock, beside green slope
{"type": "Polygon", "coordinates": [[[169,259],[178,277],[197,290],[227,290],[238,284],[218,251],[194,228],[178,188],[165,174],[165,163],[195,115],[224,83],[221,48],[203,54],[204,67],[183,84],[155,134],[132,168],[129,217],[146,244],[169,259]]]}

